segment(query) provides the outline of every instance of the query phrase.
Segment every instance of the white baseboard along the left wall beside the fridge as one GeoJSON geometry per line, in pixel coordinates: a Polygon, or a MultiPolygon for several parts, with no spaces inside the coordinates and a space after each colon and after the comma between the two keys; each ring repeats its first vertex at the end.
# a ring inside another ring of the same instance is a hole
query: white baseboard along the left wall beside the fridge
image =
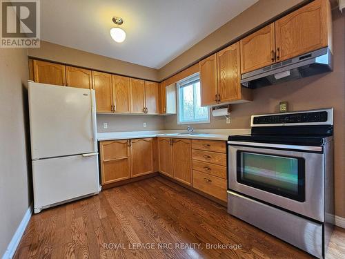
{"type": "Polygon", "coordinates": [[[13,258],[14,253],[16,252],[19,242],[21,240],[21,237],[23,236],[23,233],[26,229],[26,226],[28,226],[31,215],[32,215],[32,204],[30,204],[30,207],[24,214],[23,219],[21,220],[21,223],[19,224],[19,227],[17,228],[17,231],[15,231],[12,237],[12,240],[10,241],[10,244],[8,244],[8,247],[2,256],[2,259],[13,258]]]}

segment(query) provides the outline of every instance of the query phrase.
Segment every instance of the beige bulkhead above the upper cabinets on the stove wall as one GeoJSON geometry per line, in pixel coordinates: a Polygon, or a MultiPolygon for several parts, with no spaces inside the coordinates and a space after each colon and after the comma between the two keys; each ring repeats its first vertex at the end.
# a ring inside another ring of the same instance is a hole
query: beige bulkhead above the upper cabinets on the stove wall
{"type": "Polygon", "coordinates": [[[217,50],[217,48],[221,48],[221,46],[253,30],[260,24],[304,2],[306,0],[259,0],[253,6],[250,6],[250,8],[159,69],[159,79],[170,77],[210,52],[217,50]]]}

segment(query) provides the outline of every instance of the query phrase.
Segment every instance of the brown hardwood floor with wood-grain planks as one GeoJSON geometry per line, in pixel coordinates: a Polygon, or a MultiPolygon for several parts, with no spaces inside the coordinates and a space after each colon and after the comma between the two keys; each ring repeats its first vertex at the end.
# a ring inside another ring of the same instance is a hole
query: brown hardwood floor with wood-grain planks
{"type": "MultiPolygon", "coordinates": [[[[326,258],[344,258],[344,243],[345,231],[337,228],[326,258]]],[[[32,215],[14,258],[311,256],[157,176],[32,215]],[[146,248],[135,249],[141,243],[146,248]],[[168,247],[158,248],[164,243],[168,247]],[[208,249],[207,244],[233,244],[237,249],[208,249]]]]}

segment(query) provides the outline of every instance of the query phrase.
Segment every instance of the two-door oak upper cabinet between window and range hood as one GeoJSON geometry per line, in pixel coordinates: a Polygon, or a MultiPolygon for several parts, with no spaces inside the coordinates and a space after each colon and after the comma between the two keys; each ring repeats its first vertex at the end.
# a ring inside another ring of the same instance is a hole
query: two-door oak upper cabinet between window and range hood
{"type": "Polygon", "coordinates": [[[251,101],[251,90],[240,84],[239,43],[200,61],[201,106],[251,101]]]}

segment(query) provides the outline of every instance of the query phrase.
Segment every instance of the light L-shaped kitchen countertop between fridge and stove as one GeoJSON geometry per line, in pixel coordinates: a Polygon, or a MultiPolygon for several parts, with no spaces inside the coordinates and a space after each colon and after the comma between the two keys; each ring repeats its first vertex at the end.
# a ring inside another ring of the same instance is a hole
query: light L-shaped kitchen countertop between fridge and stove
{"type": "Polygon", "coordinates": [[[250,128],[234,129],[196,129],[195,133],[186,135],[187,131],[169,130],[169,131],[125,131],[112,133],[97,133],[97,140],[128,140],[145,137],[171,137],[195,140],[228,140],[229,135],[250,134],[250,128]]]}

